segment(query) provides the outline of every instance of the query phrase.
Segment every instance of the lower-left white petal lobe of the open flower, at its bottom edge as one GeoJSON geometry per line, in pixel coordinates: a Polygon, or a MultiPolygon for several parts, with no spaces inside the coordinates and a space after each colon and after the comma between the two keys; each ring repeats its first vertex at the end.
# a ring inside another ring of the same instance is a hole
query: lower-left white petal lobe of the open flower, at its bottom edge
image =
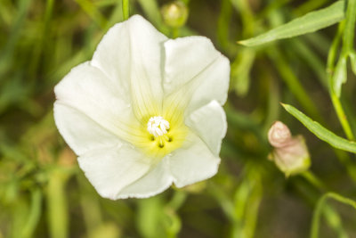
{"type": "Polygon", "coordinates": [[[125,186],[145,175],[152,166],[150,159],[126,144],[88,152],[78,162],[96,191],[112,200],[121,198],[125,186]]]}

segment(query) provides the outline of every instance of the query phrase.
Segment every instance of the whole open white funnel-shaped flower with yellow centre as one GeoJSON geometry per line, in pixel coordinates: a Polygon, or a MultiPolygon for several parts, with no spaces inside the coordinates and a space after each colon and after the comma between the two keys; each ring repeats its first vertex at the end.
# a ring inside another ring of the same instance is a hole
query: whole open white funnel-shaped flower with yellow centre
{"type": "Polygon", "coordinates": [[[54,119],[102,197],[144,198],[217,172],[230,63],[206,37],[135,15],[55,86],[54,119]]]}

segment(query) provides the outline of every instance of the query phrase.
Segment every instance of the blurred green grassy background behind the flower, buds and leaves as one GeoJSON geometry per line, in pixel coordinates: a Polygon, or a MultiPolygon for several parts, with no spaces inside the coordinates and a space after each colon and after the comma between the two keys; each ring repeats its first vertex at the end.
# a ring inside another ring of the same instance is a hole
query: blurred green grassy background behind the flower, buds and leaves
{"type": "MultiPolygon", "coordinates": [[[[323,193],[356,198],[354,155],[333,150],[279,105],[293,104],[344,136],[325,70],[337,25],[258,47],[236,43],[333,1],[182,2],[189,19],[181,29],[162,20],[168,1],[130,1],[130,13],[168,37],[209,37],[230,58],[222,164],[216,176],[196,185],[109,201],[86,180],[54,125],[53,86],[90,60],[105,32],[123,21],[122,2],[0,0],[0,238],[307,237],[323,193]],[[312,176],[286,178],[267,160],[267,131],[275,120],[305,136],[312,176]]],[[[348,75],[341,102],[355,132],[356,80],[348,75]]],[[[356,237],[355,210],[328,204],[320,237],[356,237]]]]}

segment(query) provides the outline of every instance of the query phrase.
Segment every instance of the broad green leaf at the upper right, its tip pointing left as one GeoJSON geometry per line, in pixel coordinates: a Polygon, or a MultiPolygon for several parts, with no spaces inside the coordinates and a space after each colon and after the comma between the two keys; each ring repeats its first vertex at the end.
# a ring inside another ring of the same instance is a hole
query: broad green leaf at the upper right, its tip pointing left
{"type": "Polygon", "coordinates": [[[238,43],[246,46],[262,45],[274,40],[289,37],[301,36],[319,29],[324,29],[344,19],[344,1],[337,1],[335,4],[318,11],[309,12],[302,17],[289,21],[275,29],[238,43]]]}

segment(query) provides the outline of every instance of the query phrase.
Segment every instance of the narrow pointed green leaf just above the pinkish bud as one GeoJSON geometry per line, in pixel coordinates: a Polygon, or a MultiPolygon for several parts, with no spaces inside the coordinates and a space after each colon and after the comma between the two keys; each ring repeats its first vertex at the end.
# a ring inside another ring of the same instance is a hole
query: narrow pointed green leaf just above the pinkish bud
{"type": "Polygon", "coordinates": [[[352,141],[348,141],[343,137],[335,135],[333,132],[329,131],[327,128],[321,126],[318,122],[308,118],[303,112],[298,111],[295,107],[283,104],[282,106],[292,114],[296,119],[303,123],[305,127],[307,127],[312,134],[316,135],[320,140],[327,142],[331,146],[346,151],[356,153],[356,143],[352,141]]]}

